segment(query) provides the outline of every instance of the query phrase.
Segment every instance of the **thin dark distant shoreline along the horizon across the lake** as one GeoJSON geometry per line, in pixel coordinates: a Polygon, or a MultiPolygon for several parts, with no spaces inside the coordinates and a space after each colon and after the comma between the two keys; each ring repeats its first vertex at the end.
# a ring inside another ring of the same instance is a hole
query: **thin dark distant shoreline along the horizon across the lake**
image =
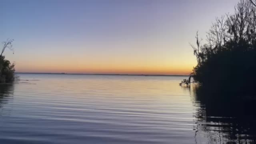
{"type": "MultiPolygon", "coordinates": [[[[15,72],[15,74],[72,74],[72,73],[15,72]]],[[[189,76],[189,75],[168,75],[168,74],[74,74],[74,75],[107,75],[107,76],[189,76]]]]}

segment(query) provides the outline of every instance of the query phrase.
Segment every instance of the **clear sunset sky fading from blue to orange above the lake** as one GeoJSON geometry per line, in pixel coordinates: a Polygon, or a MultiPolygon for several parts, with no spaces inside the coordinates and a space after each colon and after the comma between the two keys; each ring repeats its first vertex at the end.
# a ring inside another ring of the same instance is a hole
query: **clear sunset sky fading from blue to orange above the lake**
{"type": "Polygon", "coordinates": [[[189,74],[196,31],[237,2],[0,0],[0,42],[14,39],[16,72],[189,74]]]}

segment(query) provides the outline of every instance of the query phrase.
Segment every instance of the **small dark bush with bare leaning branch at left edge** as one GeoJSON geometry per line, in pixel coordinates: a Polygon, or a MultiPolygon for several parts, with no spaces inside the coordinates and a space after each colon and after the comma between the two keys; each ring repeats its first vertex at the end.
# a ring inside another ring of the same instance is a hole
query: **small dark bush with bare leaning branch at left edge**
{"type": "Polygon", "coordinates": [[[13,40],[7,40],[3,42],[3,49],[0,54],[0,83],[5,82],[13,82],[14,81],[14,64],[11,64],[9,60],[6,60],[5,57],[2,55],[6,48],[12,49],[12,42],[13,40]]]}

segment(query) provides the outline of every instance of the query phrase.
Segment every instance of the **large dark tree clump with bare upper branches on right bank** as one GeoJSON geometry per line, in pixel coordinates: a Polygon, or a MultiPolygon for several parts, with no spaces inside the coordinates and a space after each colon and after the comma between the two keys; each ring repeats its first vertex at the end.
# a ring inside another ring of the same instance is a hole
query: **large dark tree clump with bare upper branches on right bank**
{"type": "Polygon", "coordinates": [[[234,14],[216,18],[204,44],[196,34],[196,46],[191,45],[198,62],[191,73],[193,82],[211,91],[256,96],[255,3],[240,0],[234,14]]]}

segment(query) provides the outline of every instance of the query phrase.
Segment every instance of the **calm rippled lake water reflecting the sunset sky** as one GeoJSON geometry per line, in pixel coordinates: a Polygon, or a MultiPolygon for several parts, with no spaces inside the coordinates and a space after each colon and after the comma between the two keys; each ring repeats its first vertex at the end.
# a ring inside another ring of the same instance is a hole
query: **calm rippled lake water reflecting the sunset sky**
{"type": "Polygon", "coordinates": [[[18,75],[0,85],[1,144],[255,143],[254,114],[201,102],[186,77],[18,75]]]}

